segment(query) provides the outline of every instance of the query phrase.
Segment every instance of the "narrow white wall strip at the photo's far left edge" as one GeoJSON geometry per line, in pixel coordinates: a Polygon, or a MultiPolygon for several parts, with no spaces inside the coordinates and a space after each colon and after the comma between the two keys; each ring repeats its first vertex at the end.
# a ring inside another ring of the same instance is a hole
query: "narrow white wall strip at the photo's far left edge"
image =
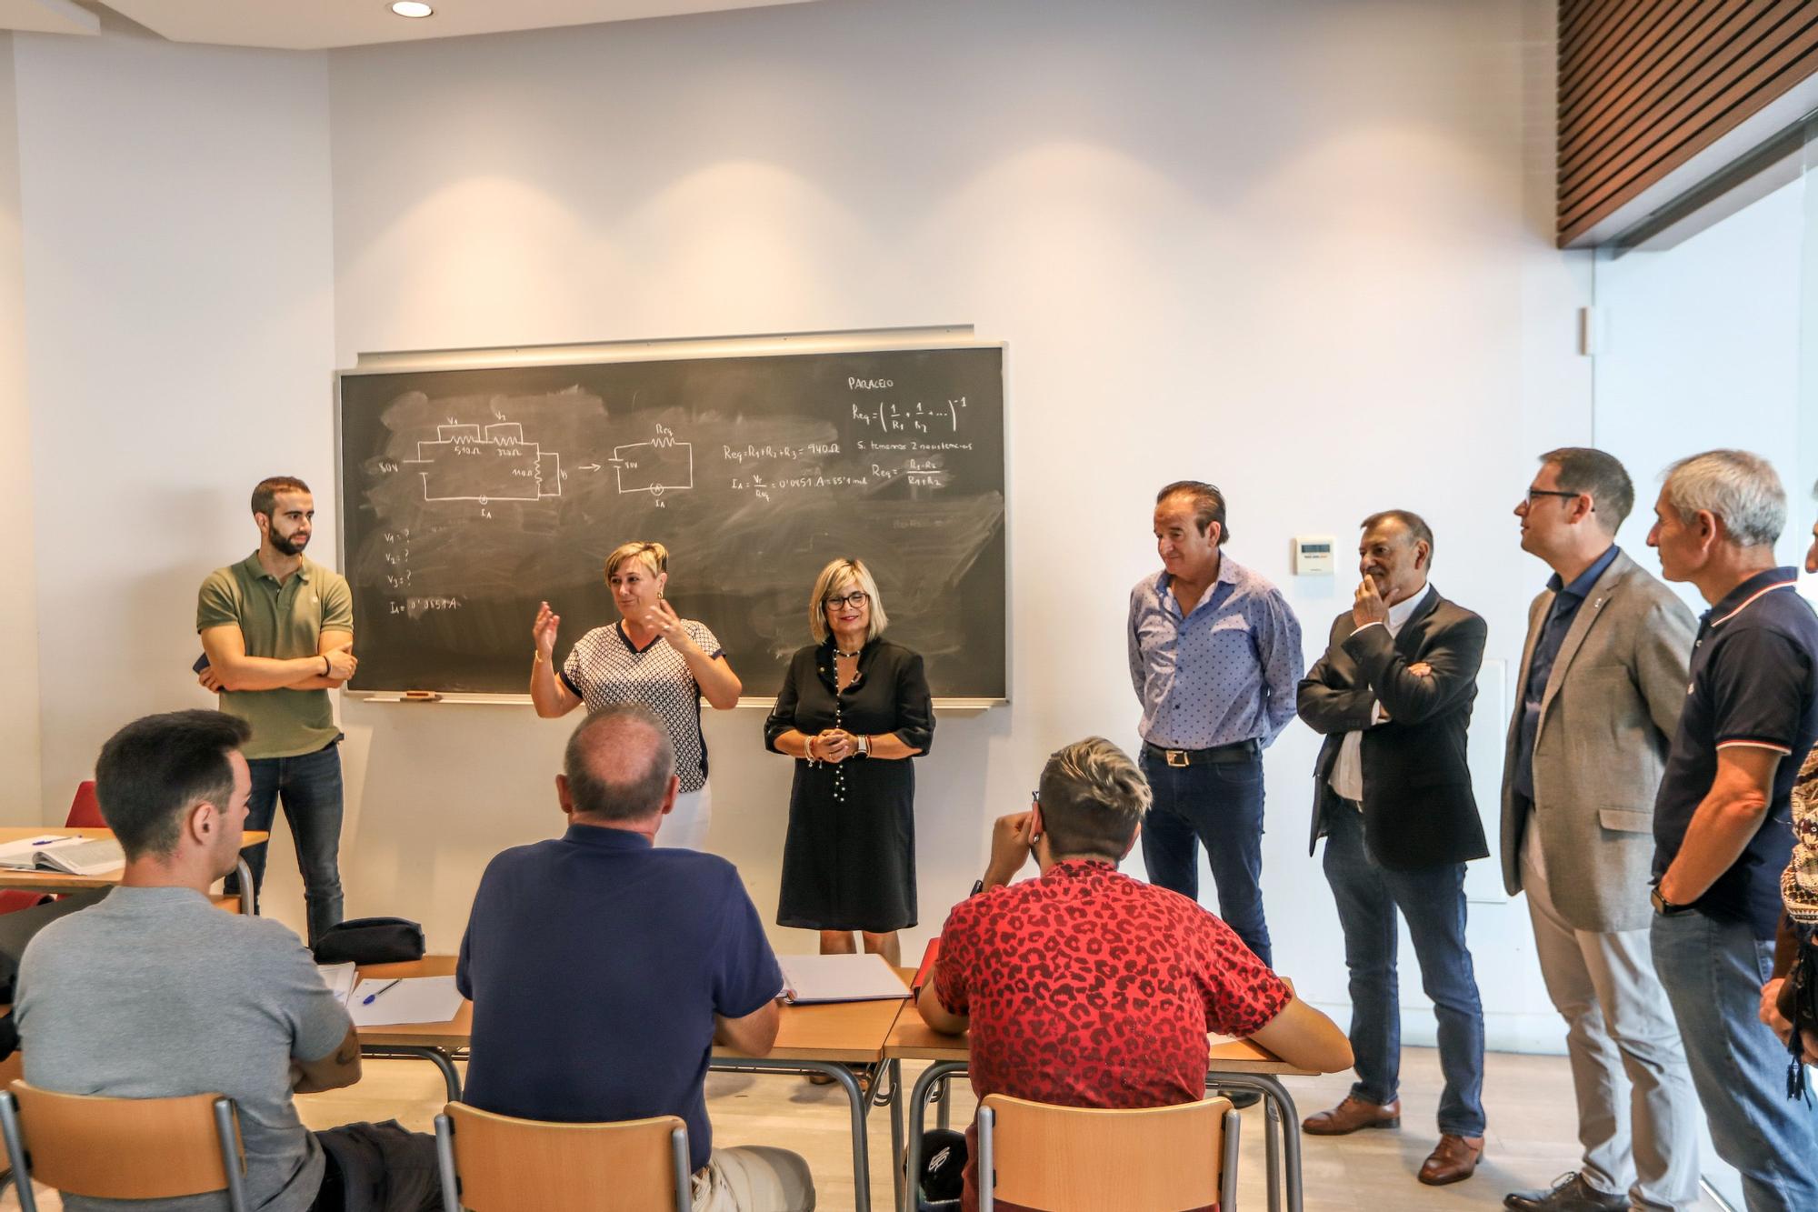
{"type": "Polygon", "coordinates": [[[36,823],[38,737],[38,573],[33,562],[31,406],[25,393],[25,266],[18,197],[18,93],[13,35],[0,35],[0,651],[9,653],[0,697],[0,813],[36,823]]]}

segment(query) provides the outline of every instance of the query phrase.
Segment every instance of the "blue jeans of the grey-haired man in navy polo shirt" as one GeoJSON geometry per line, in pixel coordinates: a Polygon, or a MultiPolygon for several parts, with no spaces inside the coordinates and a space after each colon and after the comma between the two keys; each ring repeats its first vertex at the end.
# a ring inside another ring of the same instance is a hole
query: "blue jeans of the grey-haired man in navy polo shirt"
{"type": "Polygon", "coordinates": [[[1818,1112],[1787,1099],[1791,1057],[1756,1017],[1774,944],[1698,912],[1656,915],[1649,943],[1711,1141],[1742,1174],[1749,1212],[1818,1208],[1818,1112]]]}

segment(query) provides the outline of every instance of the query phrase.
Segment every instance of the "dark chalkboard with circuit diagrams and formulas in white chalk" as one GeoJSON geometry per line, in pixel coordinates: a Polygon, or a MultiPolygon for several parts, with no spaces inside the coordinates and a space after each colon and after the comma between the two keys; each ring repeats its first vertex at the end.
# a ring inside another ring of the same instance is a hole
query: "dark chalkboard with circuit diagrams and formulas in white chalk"
{"type": "Polygon", "coordinates": [[[525,693],[618,619],[605,555],[669,548],[669,599],[747,697],[809,642],[836,555],[944,699],[1004,699],[1004,349],[878,349],[342,371],[340,519],[355,692],[525,693]]]}

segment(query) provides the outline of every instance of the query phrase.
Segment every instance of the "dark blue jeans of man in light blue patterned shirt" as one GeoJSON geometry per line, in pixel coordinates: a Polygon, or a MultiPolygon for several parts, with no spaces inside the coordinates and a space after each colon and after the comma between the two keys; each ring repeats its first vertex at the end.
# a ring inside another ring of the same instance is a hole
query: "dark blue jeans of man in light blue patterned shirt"
{"type": "Polygon", "coordinates": [[[1262,914],[1262,757],[1169,766],[1144,750],[1154,804],[1142,823],[1149,883],[1200,899],[1200,844],[1218,888],[1218,915],[1256,959],[1269,963],[1262,914]]]}

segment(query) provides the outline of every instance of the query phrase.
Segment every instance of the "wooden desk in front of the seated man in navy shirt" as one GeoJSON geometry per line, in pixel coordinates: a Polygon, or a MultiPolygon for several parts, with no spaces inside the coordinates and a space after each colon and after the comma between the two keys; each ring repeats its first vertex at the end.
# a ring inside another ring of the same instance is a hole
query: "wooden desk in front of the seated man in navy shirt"
{"type": "MultiPolygon", "coordinates": [[[[398,977],[451,975],[454,955],[425,955],[404,965],[365,965],[360,977],[391,981],[398,977]]],[[[714,1045],[707,1068],[724,1074],[825,1074],[845,1090],[853,1116],[853,1201],[856,1212],[871,1208],[871,1150],[865,1139],[865,1114],[873,1101],[891,1099],[891,1143],[902,1154],[902,1097],[880,1096],[885,1068],[884,1037],[907,1005],[902,1001],[847,1001],[825,1006],[784,1006],[776,1028],[776,1046],[765,1055],[745,1055],[714,1045]],[[858,1085],[849,1066],[871,1070],[869,1092],[858,1085]]],[[[454,1061],[473,1045],[473,1003],[462,1001],[447,1023],[402,1023],[362,1026],[360,1052],[373,1057],[411,1057],[442,1070],[449,1101],[460,1101],[460,1074],[454,1061]]],[[[893,1068],[893,1072],[896,1072],[893,1068]]],[[[891,1083],[900,1094],[900,1083],[891,1083]]]]}

